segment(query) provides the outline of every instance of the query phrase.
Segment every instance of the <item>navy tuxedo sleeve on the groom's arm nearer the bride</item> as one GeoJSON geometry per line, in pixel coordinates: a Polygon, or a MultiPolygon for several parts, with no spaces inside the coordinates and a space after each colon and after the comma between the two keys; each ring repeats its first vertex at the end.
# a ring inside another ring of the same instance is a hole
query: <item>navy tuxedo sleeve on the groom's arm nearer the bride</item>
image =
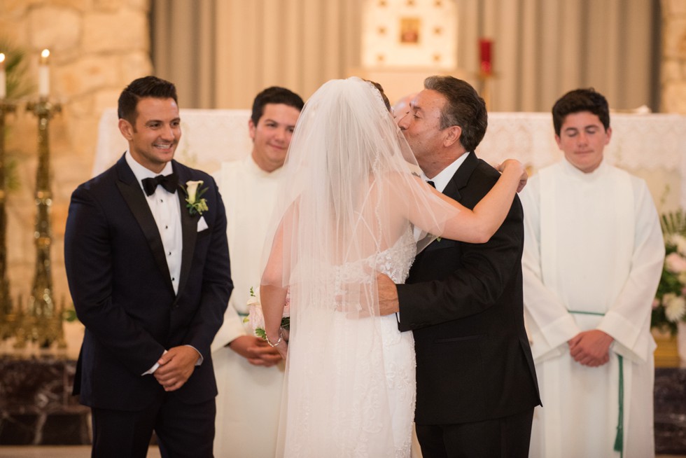
{"type": "Polygon", "coordinates": [[[226,240],[226,211],[214,180],[210,178],[208,181],[211,181],[209,188],[214,193],[209,204],[216,209],[216,215],[210,226],[211,240],[203,262],[200,305],[184,342],[197,349],[203,359],[210,354],[212,340],[222,325],[233,290],[226,240]]]}

